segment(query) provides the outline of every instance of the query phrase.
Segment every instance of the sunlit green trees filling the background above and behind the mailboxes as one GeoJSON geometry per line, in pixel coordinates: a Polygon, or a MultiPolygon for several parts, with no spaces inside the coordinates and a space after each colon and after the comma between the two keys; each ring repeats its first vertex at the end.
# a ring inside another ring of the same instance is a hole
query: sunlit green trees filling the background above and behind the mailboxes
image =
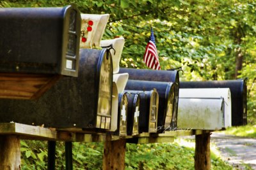
{"type": "MultiPolygon", "coordinates": [[[[181,67],[184,71],[180,75],[181,81],[232,80],[247,77],[248,123],[255,124],[255,1],[13,0],[0,1],[0,7],[64,6],[71,3],[76,4],[81,13],[109,13],[111,15],[103,39],[124,36],[125,46],[120,62],[123,67],[146,68],[143,63],[143,53],[150,34],[150,27],[153,27],[161,68],[181,67]]],[[[33,146],[35,148],[33,152],[28,150],[30,145],[36,145],[35,143],[22,144],[24,157],[33,157],[37,160],[45,159],[45,151],[37,150],[37,146],[33,146]]],[[[100,157],[102,154],[99,153],[100,151],[97,152],[95,147],[98,147],[98,144],[86,145],[83,153],[89,152],[100,157]]],[[[130,145],[127,146],[128,153],[130,152],[129,147],[131,150],[135,149],[130,145]]],[[[155,147],[165,146],[156,145],[155,147]]],[[[178,146],[166,145],[166,147],[178,146]]],[[[137,148],[140,149],[140,146],[137,148]]],[[[143,148],[147,148],[147,145],[143,148]]],[[[164,150],[173,150],[173,148],[164,148],[164,150]]],[[[63,153],[58,150],[58,154],[63,153]]],[[[85,164],[84,160],[88,159],[87,157],[88,155],[78,155],[76,160],[85,164]]],[[[129,155],[127,155],[128,157],[129,155]]],[[[147,158],[150,159],[150,155],[147,158]]],[[[62,159],[61,156],[60,159],[62,159]]],[[[127,168],[132,168],[129,166],[129,160],[126,160],[127,168]]],[[[23,161],[33,160],[24,159],[23,161]]],[[[90,164],[92,162],[89,161],[85,166],[90,167],[90,164]]],[[[145,166],[144,162],[138,163],[139,166],[141,164],[145,166]]],[[[161,166],[162,162],[157,164],[161,166]]],[[[36,166],[38,167],[36,169],[39,169],[40,164],[36,166]]],[[[169,167],[172,169],[172,165],[169,167]]]]}

